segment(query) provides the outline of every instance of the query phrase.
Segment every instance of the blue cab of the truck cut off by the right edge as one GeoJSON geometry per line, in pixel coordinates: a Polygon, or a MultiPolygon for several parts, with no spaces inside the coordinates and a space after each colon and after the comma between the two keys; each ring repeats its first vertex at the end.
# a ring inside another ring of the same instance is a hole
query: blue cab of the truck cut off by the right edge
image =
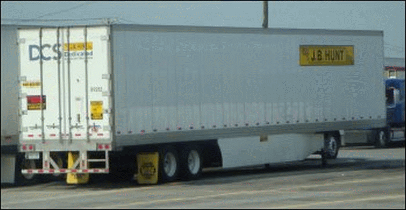
{"type": "Polygon", "coordinates": [[[404,127],[404,79],[387,79],[386,124],[392,128],[404,127]]]}

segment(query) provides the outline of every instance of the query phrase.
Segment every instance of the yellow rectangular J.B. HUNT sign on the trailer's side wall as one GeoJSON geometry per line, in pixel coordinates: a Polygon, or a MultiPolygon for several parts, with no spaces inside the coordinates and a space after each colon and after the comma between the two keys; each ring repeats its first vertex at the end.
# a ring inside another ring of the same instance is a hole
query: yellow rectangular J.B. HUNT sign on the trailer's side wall
{"type": "Polygon", "coordinates": [[[354,46],[300,45],[300,65],[354,65],[354,46]]]}

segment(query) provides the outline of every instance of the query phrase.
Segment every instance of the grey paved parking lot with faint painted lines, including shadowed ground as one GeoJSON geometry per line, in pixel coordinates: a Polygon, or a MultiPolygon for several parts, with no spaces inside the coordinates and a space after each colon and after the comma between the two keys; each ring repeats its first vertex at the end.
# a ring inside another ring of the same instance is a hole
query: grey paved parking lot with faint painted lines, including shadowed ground
{"type": "Polygon", "coordinates": [[[2,208],[404,208],[404,147],[343,148],[320,167],[305,161],[210,171],[161,185],[51,182],[2,189],[2,208]]]}

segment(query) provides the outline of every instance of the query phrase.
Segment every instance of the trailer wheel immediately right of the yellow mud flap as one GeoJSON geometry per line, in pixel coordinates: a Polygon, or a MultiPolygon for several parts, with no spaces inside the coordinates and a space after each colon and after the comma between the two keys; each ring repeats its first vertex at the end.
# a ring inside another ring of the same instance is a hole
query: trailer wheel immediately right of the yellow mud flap
{"type": "Polygon", "coordinates": [[[166,146],[159,152],[158,179],[161,183],[173,182],[178,178],[179,156],[172,146],[166,146]]]}

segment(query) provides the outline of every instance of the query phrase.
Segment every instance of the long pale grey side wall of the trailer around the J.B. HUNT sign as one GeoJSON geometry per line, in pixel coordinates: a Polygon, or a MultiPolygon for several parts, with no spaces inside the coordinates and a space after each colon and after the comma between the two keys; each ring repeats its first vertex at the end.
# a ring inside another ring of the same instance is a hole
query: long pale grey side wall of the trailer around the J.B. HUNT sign
{"type": "Polygon", "coordinates": [[[172,131],[222,129],[213,132],[231,136],[237,127],[319,123],[305,129],[317,132],[323,123],[337,121],[342,127],[337,129],[382,126],[382,36],[382,31],[113,25],[117,145],[136,139],[155,143],[143,135],[172,131]],[[300,45],[353,46],[354,64],[301,66],[300,45]]]}

